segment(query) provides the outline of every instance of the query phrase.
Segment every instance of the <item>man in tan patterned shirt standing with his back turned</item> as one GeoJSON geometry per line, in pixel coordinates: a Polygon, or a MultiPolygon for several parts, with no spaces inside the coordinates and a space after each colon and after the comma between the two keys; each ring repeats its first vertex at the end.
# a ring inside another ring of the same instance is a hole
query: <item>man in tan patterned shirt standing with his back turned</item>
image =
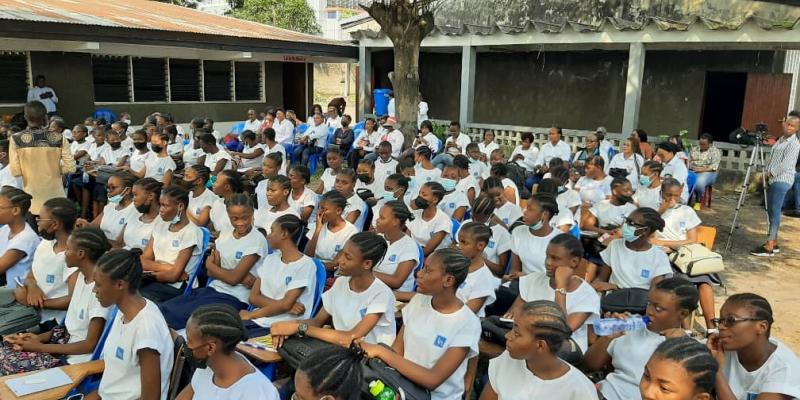
{"type": "Polygon", "coordinates": [[[75,160],[63,134],[47,130],[47,109],[39,101],[25,104],[28,127],[10,138],[11,174],[21,176],[23,190],[33,196],[31,213],[38,215],[45,201],[66,197],[62,176],[75,172],[75,160]]]}

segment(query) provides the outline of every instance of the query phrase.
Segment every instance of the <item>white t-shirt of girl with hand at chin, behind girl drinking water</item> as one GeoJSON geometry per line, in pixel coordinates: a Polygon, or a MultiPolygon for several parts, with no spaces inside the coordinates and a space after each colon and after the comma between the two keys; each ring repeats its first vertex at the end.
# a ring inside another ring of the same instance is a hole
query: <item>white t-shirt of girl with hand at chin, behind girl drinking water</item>
{"type": "MultiPolygon", "coordinates": [[[[519,278],[519,297],[526,302],[534,300],[555,299],[556,291],[550,287],[550,278],[544,272],[532,272],[519,278]]],[[[580,328],[572,332],[572,339],[578,343],[584,353],[589,348],[588,325],[600,317],[600,295],[592,285],[581,280],[581,284],[572,292],[567,292],[567,316],[576,313],[591,315],[580,328]]]]}

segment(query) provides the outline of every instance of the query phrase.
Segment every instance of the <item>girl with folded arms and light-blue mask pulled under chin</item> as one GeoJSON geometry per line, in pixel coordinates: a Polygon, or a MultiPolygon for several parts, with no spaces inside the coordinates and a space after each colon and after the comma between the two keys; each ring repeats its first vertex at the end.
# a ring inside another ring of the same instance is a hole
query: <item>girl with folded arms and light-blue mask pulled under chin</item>
{"type": "Polygon", "coordinates": [[[173,185],[161,192],[159,202],[164,223],[153,227],[153,238],[142,254],[145,280],[139,291],[145,298],[163,303],[183,293],[204,249],[200,228],[186,217],[189,192],[173,185]]]}

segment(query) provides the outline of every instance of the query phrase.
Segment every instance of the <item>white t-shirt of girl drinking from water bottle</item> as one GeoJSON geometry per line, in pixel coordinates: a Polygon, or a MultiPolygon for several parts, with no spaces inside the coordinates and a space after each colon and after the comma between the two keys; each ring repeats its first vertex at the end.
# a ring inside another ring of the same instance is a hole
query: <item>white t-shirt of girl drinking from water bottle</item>
{"type": "Polygon", "coordinates": [[[641,398],[639,381],[644,366],[661,342],[665,340],[657,332],[637,329],[613,339],[608,345],[614,371],[600,381],[600,393],[607,400],[630,400],[641,398]]]}

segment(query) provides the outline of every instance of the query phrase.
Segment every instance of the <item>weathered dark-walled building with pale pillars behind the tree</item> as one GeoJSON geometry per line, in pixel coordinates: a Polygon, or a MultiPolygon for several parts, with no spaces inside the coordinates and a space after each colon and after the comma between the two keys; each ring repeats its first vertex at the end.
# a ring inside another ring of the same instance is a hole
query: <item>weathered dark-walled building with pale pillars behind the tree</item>
{"type": "MultiPolygon", "coordinates": [[[[552,125],[727,140],[764,121],[774,134],[800,108],[799,19],[798,6],[743,0],[445,1],[422,43],[421,91],[432,118],[512,142],[552,125]]],[[[369,113],[372,90],[391,85],[392,45],[369,18],[343,29],[369,113]]]]}

